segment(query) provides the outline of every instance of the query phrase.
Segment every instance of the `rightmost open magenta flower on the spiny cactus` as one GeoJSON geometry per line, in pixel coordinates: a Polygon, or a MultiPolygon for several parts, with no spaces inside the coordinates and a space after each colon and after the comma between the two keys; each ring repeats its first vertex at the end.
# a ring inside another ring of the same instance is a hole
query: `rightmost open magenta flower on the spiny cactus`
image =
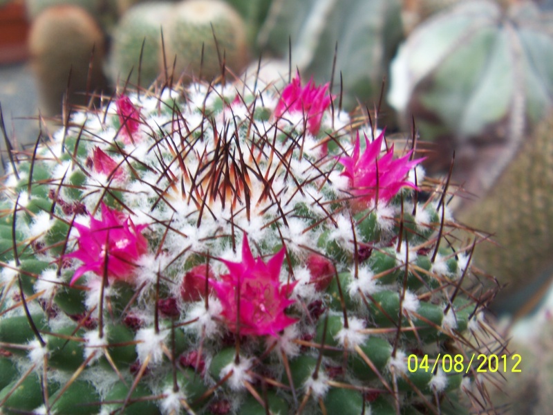
{"type": "Polygon", "coordinates": [[[366,149],[359,154],[359,131],[353,148],[353,156],[340,157],[339,163],[344,165],[341,174],[350,179],[350,192],[355,196],[352,203],[354,210],[364,210],[378,198],[388,202],[402,187],[418,190],[414,183],[406,180],[406,175],[424,158],[409,160],[413,150],[401,158],[393,159],[393,145],[381,156],[384,131],[373,142],[369,142],[365,134],[366,149]]]}

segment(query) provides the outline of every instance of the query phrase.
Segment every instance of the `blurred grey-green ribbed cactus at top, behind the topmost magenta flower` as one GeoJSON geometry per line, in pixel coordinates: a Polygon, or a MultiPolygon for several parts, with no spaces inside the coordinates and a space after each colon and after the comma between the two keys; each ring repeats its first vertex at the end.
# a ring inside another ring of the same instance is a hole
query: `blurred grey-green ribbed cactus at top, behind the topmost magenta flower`
{"type": "MultiPolygon", "coordinates": [[[[292,68],[318,82],[332,75],[337,44],[335,89],[344,81],[344,107],[357,100],[372,107],[378,102],[388,62],[402,39],[400,0],[281,0],[273,1],[261,28],[258,46],[288,59],[292,68]]],[[[386,111],[381,111],[386,114],[386,111]]]]}

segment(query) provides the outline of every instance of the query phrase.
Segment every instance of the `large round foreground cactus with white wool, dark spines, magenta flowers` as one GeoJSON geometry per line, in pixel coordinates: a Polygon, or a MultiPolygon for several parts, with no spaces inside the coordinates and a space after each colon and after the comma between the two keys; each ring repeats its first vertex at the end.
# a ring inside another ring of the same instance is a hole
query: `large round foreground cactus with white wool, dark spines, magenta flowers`
{"type": "Polygon", "coordinates": [[[129,88],[10,154],[5,414],[489,406],[468,365],[501,344],[474,243],[451,244],[447,190],[421,159],[328,88],[129,88]]]}

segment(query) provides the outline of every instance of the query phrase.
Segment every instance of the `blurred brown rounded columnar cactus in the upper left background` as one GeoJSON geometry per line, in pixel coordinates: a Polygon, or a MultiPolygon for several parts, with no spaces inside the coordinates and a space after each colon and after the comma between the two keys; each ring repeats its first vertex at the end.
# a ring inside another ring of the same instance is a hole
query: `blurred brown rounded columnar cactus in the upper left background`
{"type": "Polygon", "coordinates": [[[88,104],[90,93],[105,88],[104,34],[82,8],[44,10],[32,24],[28,42],[44,115],[61,113],[65,94],[69,104],[88,104]]]}

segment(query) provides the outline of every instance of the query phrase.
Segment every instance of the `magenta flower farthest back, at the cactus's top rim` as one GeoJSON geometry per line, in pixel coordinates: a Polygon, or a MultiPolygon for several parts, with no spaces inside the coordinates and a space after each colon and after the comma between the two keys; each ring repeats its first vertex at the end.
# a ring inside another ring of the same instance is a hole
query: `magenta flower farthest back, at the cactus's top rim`
{"type": "Polygon", "coordinates": [[[282,91],[281,100],[274,109],[274,116],[281,118],[285,113],[301,113],[307,122],[307,130],[314,136],[321,129],[321,120],[324,111],[330,106],[328,82],[322,86],[315,86],[309,80],[302,88],[299,73],[292,79],[292,83],[282,91]]]}

